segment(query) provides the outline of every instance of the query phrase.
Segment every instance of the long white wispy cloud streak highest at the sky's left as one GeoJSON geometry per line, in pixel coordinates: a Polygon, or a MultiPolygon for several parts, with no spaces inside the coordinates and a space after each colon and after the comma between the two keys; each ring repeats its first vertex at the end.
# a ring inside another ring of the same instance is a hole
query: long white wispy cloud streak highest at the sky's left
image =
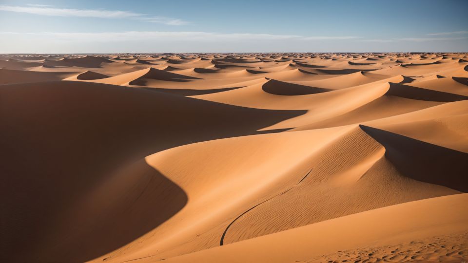
{"type": "Polygon", "coordinates": [[[185,25],[188,21],[167,17],[151,17],[146,14],[118,10],[56,8],[50,5],[29,4],[28,6],[0,5],[0,11],[27,13],[51,17],[81,17],[105,19],[135,19],[166,25],[185,25]]]}

